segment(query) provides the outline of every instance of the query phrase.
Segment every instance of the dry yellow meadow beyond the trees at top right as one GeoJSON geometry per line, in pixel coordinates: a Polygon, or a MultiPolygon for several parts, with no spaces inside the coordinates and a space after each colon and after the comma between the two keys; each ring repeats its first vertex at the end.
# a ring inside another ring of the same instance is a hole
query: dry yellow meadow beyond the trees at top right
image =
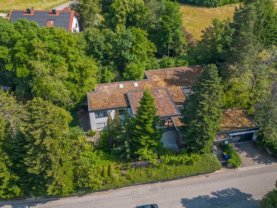
{"type": "Polygon", "coordinates": [[[230,17],[232,19],[235,6],[239,6],[239,4],[230,4],[216,8],[180,5],[181,12],[183,13],[184,27],[196,40],[200,40],[201,31],[212,24],[213,18],[223,20],[230,17]]]}

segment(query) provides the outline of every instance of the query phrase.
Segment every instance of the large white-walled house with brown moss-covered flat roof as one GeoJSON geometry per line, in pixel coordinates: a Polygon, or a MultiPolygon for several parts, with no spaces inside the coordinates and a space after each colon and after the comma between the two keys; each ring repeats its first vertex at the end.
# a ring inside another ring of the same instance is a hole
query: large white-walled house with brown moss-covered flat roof
{"type": "Polygon", "coordinates": [[[95,90],[88,93],[88,110],[92,130],[102,130],[107,125],[108,113],[114,117],[115,109],[123,113],[125,106],[133,115],[148,86],[155,98],[157,114],[162,121],[162,128],[172,128],[170,117],[180,115],[186,99],[182,87],[189,87],[195,77],[204,70],[205,65],[164,68],[145,71],[146,79],[114,82],[95,85],[95,90]]]}

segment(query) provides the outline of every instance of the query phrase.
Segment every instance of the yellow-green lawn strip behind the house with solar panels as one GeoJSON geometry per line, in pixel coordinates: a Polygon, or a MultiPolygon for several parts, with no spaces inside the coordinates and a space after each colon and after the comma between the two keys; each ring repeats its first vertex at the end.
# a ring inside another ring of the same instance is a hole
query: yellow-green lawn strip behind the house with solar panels
{"type": "Polygon", "coordinates": [[[52,9],[58,5],[64,4],[68,0],[1,0],[0,1],[0,12],[9,13],[11,9],[26,9],[32,8],[35,9],[52,9]],[[48,4],[47,4],[48,3],[48,4]]]}

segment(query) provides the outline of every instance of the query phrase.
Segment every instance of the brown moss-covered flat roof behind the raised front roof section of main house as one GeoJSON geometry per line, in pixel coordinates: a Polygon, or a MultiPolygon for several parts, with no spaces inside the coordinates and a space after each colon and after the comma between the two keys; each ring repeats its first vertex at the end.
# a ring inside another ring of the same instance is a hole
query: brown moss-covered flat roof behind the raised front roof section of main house
{"type": "Polygon", "coordinates": [[[144,90],[147,86],[150,89],[166,87],[174,103],[182,105],[186,98],[181,87],[192,85],[194,77],[198,77],[204,67],[205,65],[195,65],[149,70],[145,71],[147,79],[96,84],[95,90],[88,93],[89,110],[130,106],[127,92],[144,90]]]}

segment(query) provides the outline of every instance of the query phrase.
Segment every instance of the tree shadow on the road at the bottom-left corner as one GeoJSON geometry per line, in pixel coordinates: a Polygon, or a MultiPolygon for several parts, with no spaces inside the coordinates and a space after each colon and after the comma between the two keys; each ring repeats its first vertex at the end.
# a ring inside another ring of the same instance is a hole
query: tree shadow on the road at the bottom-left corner
{"type": "Polygon", "coordinates": [[[1,201],[0,202],[0,207],[3,206],[9,206],[12,208],[22,208],[22,207],[35,207],[41,204],[46,204],[51,201],[56,201],[59,200],[60,198],[55,198],[55,199],[27,199],[27,200],[21,200],[21,201],[1,201]]]}

